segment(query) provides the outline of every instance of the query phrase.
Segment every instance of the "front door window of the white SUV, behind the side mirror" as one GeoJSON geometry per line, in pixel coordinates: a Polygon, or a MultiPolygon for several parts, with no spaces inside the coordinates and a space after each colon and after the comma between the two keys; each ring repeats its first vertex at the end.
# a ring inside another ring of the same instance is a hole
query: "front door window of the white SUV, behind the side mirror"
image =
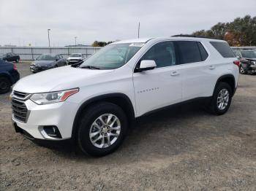
{"type": "Polygon", "coordinates": [[[159,42],[155,44],[140,60],[153,60],[157,63],[157,68],[176,65],[176,53],[173,42],[159,42]]]}

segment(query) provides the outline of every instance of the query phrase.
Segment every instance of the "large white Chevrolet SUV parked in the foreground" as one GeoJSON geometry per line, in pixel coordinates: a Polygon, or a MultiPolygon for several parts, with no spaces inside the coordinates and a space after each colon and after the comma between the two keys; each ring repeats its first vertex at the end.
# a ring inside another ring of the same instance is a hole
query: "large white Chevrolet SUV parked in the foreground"
{"type": "Polygon", "coordinates": [[[217,39],[114,42],[81,64],[20,79],[11,95],[13,124],[29,139],[71,139],[89,155],[107,155],[148,112],[195,98],[207,98],[214,114],[227,112],[238,65],[217,39]]]}

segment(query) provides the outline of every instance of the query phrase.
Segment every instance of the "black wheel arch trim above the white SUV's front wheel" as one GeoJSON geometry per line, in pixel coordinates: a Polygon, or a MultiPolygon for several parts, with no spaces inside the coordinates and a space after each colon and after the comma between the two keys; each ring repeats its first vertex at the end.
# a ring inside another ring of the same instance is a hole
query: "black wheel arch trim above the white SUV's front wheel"
{"type": "Polygon", "coordinates": [[[113,104],[116,104],[121,107],[121,109],[124,110],[125,114],[127,114],[129,123],[132,122],[132,120],[135,119],[135,110],[132,106],[132,101],[129,99],[127,95],[124,93],[108,93],[104,95],[99,95],[94,98],[90,98],[89,100],[85,101],[81,106],[79,107],[77,113],[75,114],[75,120],[73,122],[72,126],[72,139],[75,139],[77,130],[78,130],[78,122],[80,119],[81,114],[89,108],[89,106],[92,106],[93,104],[97,104],[101,101],[110,102],[113,104]]]}

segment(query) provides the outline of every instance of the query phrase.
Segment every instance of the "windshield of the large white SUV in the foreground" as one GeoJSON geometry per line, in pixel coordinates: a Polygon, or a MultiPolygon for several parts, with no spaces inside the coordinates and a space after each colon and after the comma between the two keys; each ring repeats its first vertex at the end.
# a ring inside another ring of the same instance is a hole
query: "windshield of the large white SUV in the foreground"
{"type": "Polygon", "coordinates": [[[143,45],[142,43],[109,44],[91,55],[80,65],[80,68],[93,66],[98,69],[117,69],[124,66],[143,45]]]}

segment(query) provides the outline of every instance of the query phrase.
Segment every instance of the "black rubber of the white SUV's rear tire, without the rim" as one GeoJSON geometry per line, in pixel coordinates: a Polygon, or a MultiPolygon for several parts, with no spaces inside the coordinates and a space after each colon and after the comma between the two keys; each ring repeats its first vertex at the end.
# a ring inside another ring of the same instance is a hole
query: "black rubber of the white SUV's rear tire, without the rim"
{"type": "Polygon", "coordinates": [[[227,112],[227,110],[230,107],[231,101],[232,101],[232,89],[231,89],[230,85],[228,85],[225,82],[219,82],[216,89],[214,90],[214,95],[213,95],[213,98],[211,100],[211,110],[212,110],[212,112],[214,112],[214,114],[217,114],[217,115],[225,114],[225,112],[227,112]],[[227,89],[227,91],[229,93],[229,100],[228,100],[226,108],[221,110],[221,109],[218,108],[217,98],[218,98],[219,92],[222,89],[227,89]]]}

